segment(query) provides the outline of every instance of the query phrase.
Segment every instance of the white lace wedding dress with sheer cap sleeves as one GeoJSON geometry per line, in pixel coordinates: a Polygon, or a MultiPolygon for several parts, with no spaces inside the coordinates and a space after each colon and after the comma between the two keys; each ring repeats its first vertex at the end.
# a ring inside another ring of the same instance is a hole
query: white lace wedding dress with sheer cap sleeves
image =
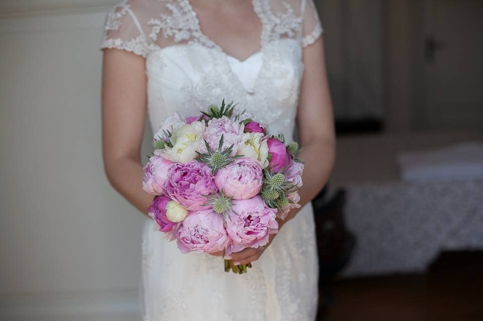
{"type": "MultiPolygon", "coordinates": [[[[263,31],[260,51],[244,61],[203,34],[188,0],[131,0],[106,17],[102,48],[146,58],[153,130],[175,111],[196,115],[234,100],[292,137],[304,65],[302,51],[322,32],[312,0],[253,0],[263,31]]],[[[304,178],[309,179],[309,178],[304,178]]],[[[318,265],[311,205],[281,229],[249,273],[223,270],[223,260],[181,254],[147,220],[142,243],[144,321],[313,321],[318,265]]]]}

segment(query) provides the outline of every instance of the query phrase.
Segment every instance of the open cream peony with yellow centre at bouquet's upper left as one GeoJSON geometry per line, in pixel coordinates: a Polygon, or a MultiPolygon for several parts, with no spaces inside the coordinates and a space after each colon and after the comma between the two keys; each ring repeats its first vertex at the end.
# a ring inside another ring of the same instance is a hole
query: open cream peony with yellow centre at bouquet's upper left
{"type": "Polygon", "coordinates": [[[189,163],[197,155],[196,151],[204,130],[204,122],[185,124],[171,136],[170,142],[173,147],[165,146],[163,149],[156,149],[154,155],[163,156],[175,163],[189,163]]]}

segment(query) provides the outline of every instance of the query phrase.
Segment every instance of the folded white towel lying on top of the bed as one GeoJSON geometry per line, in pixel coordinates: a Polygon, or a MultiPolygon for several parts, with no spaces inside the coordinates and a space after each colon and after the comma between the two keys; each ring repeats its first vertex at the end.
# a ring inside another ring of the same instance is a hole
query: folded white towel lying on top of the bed
{"type": "Polygon", "coordinates": [[[401,178],[412,183],[483,179],[483,144],[470,142],[399,154],[401,178]]]}

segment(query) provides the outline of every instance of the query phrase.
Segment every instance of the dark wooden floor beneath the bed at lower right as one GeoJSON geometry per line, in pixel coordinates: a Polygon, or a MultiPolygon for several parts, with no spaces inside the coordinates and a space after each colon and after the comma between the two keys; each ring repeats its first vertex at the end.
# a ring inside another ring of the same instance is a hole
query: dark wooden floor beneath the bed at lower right
{"type": "Polygon", "coordinates": [[[443,254],[424,275],[336,281],[327,301],[319,320],[483,321],[483,253],[443,254]]]}

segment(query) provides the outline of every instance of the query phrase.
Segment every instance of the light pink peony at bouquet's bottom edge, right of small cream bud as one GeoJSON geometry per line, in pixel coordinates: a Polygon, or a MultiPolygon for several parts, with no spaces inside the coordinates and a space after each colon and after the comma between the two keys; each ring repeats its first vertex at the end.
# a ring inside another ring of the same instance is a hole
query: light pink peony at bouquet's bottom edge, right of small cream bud
{"type": "Polygon", "coordinates": [[[223,217],[212,209],[189,212],[186,219],[178,224],[175,234],[182,253],[218,252],[229,243],[223,217]]]}

